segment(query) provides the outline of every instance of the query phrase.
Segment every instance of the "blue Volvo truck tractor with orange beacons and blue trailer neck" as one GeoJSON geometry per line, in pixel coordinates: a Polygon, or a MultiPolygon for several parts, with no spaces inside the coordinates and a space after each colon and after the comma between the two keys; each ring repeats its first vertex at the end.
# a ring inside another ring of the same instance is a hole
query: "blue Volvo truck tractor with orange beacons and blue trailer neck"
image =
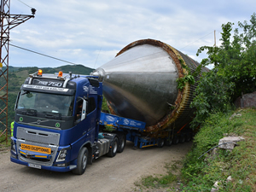
{"type": "Polygon", "coordinates": [[[102,113],[96,76],[38,70],[17,96],[10,160],[81,175],[100,156],[123,152],[126,138],[134,142],[144,128],[144,122],[102,113]],[[114,131],[102,131],[105,125],[114,131]]]}

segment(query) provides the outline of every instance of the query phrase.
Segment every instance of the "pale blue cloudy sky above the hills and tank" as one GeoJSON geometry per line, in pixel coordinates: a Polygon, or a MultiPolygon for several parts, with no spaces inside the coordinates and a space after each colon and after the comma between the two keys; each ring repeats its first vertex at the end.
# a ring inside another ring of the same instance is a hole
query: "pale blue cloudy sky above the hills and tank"
{"type": "MultiPolygon", "coordinates": [[[[11,0],[10,14],[35,17],[10,30],[10,44],[96,68],[134,41],[152,38],[201,62],[201,46],[220,44],[221,25],[249,21],[254,0],[11,0]]],[[[59,67],[70,63],[9,47],[9,66],[59,67]]]]}

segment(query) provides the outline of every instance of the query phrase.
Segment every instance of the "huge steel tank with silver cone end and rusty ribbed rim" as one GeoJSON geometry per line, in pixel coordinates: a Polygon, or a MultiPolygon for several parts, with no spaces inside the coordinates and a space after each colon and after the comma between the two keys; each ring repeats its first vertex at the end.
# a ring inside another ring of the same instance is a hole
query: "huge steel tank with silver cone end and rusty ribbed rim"
{"type": "Polygon", "coordinates": [[[196,84],[178,90],[177,79],[188,73],[187,67],[193,73],[199,65],[168,44],[143,39],[128,44],[92,74],[103,83],[110,113],[146,122],[146,132],[182,130],[193,119],[189,104],[196,84]]]}

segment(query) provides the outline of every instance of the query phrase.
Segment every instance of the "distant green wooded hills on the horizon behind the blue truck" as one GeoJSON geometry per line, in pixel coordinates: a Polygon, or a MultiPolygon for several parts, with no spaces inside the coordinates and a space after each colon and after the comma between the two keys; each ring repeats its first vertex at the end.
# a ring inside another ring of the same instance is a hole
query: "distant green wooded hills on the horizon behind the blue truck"
{"type": "MultiPolygon", "coordinates": [[[[5,67],[3,67],[4,71],[5,67]]],[[[43,67],[41,68],[43,73],[58,73],[59,71],[63,73],[75,73],[75,74],[90,74],[93,71],[92,68],[84,67],[82,65],[67,65],[61,67],[43,67]]],[[[24,83],[25,79],[31,73],[36,73],[38,71],[38,67],[11,67],[9,66],[9,101],[8,101],[8,122],[9,124],[15,117],[15,101],[18,92],[20,91],[21,84],[24,83]]],[[[5,81],[0,79],[0,84],[4,84],[5,81]]],[[[0,108],[3,108],[4,103],[0,102],[0,108]]],[[[3,131],[3,125],[0,124],[0,131],[3,131]]]]}

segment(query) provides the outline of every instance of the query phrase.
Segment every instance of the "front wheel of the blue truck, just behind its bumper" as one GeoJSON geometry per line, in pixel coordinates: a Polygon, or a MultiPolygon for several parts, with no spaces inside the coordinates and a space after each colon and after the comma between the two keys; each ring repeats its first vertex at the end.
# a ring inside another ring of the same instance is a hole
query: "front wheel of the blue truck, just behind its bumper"
{"type": "Polygon", "coordinates": [[[82,175],[85,172],[86,166],[87,166],[87,160],[88,160],[88,149],[82,148],[79,157],[78,157],[78,166],[76,169],[73,170],[74,174],[82,175]]]}

